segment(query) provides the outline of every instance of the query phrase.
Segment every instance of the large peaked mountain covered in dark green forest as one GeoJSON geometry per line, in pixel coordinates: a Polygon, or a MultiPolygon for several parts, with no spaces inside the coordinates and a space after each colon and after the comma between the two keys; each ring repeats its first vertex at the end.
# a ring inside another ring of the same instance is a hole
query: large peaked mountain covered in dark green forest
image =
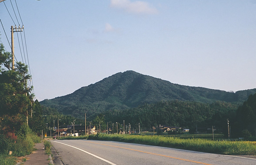
{"type": "Polygon", "coordinates": [[[233,93],[178,85],[135,71],[125,71],[82,87],[66,96],[43,100],[40,104],[78,117],[85,112],[88,115],[95,115],[108,110],[125,110],[144,103],[170,100],[242,103],[254,93],[256,88],[233,93]]]}

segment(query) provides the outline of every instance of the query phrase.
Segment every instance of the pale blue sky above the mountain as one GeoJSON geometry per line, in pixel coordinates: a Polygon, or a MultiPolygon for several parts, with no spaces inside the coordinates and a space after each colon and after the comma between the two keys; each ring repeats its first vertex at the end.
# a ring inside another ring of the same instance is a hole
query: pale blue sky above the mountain
{"type": "Polygon", "coordinates": [[[9,52],[4,31],[11,41],[11,25],[23,22],[14,54],[28,57],[39,101],[127,70],[180,85],[256,88],[256,0],[5,0],[0,19],[9,52]]]}

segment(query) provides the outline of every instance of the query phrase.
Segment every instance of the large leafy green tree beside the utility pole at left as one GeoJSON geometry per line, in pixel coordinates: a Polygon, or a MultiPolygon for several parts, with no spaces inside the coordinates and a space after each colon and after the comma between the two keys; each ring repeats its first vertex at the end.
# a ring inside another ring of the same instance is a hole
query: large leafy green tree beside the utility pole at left
{"type": "Polygon", "coordinates": [[[33,101],[33,87],[27,87],[30,78],[28,66],[21,62],[11,70],[11,53],[0,44],[0,133],[26,137],[26,114],[33,101]]]}

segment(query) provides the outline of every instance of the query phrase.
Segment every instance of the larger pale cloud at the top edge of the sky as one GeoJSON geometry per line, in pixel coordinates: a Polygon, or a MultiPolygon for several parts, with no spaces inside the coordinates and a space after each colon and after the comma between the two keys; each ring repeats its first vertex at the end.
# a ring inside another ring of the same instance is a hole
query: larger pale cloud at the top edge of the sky
{"type": "Polygon", "coordinates": [[[156,8],[149,6],[147,2],[130,0],[111,0],[111,7],[123,9],[129,13],[135,14],[156,14],[156,8]]]}

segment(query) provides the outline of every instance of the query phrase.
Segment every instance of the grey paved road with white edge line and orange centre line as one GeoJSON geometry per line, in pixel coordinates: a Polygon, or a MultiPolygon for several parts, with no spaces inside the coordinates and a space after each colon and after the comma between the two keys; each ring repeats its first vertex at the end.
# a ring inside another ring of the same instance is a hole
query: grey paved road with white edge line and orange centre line
{"type": "Polygon", "coordinates": [[[65,165],[256,165],[256,159],[97,140],[56,140],[65,165]]]}

